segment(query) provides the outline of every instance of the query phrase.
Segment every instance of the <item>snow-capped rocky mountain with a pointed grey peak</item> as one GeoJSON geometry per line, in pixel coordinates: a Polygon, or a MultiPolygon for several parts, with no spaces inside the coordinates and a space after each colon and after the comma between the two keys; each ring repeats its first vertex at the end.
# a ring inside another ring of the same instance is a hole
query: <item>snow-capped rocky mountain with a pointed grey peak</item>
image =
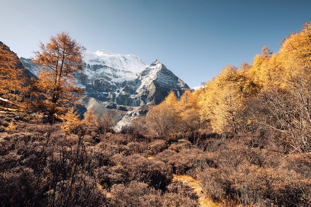
{"type": "MultiPolygon", "coordinates": [[[[150,66],[134,55],[113,54],[83,48],[84,71],[77,84],[85,94],[110,105],[130,107],[158,104],[173,90],[179,96],[189,86],[159,61],[150,66]]],[[[20,59],[31,74],[39,72],[30,59],[20,59]]]]}

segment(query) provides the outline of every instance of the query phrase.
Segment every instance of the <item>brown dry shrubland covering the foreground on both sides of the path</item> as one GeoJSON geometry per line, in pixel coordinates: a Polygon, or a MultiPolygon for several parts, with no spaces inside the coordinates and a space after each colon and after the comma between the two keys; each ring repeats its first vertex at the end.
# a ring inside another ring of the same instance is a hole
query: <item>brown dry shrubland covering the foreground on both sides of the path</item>
{"type": "Polygon", "coordinates": [[[198,179],[223,206],[311,205],[311,155],[284,156],[260,138],[210,138],[198,148],[106,133],[97,143],[60,124],[16,124],[0,133],[1,206],[198,206],[173,173],[198,179]]]}

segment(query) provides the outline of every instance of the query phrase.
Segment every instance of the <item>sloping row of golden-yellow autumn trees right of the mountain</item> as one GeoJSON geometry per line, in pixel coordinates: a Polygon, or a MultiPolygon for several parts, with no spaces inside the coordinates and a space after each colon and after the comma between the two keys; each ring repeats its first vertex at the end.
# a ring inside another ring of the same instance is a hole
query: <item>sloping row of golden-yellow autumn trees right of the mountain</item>
{"type": "Polygon", "coordinates": [[[147,115],[157,135],[260,134],[284,153],[311,152],[311,23],[272,54],[263,47],[249,65],[226,66],[202,89],[171,93],[147,115]],[[208,132],[207,129],[210,129],[208,132]]]}

